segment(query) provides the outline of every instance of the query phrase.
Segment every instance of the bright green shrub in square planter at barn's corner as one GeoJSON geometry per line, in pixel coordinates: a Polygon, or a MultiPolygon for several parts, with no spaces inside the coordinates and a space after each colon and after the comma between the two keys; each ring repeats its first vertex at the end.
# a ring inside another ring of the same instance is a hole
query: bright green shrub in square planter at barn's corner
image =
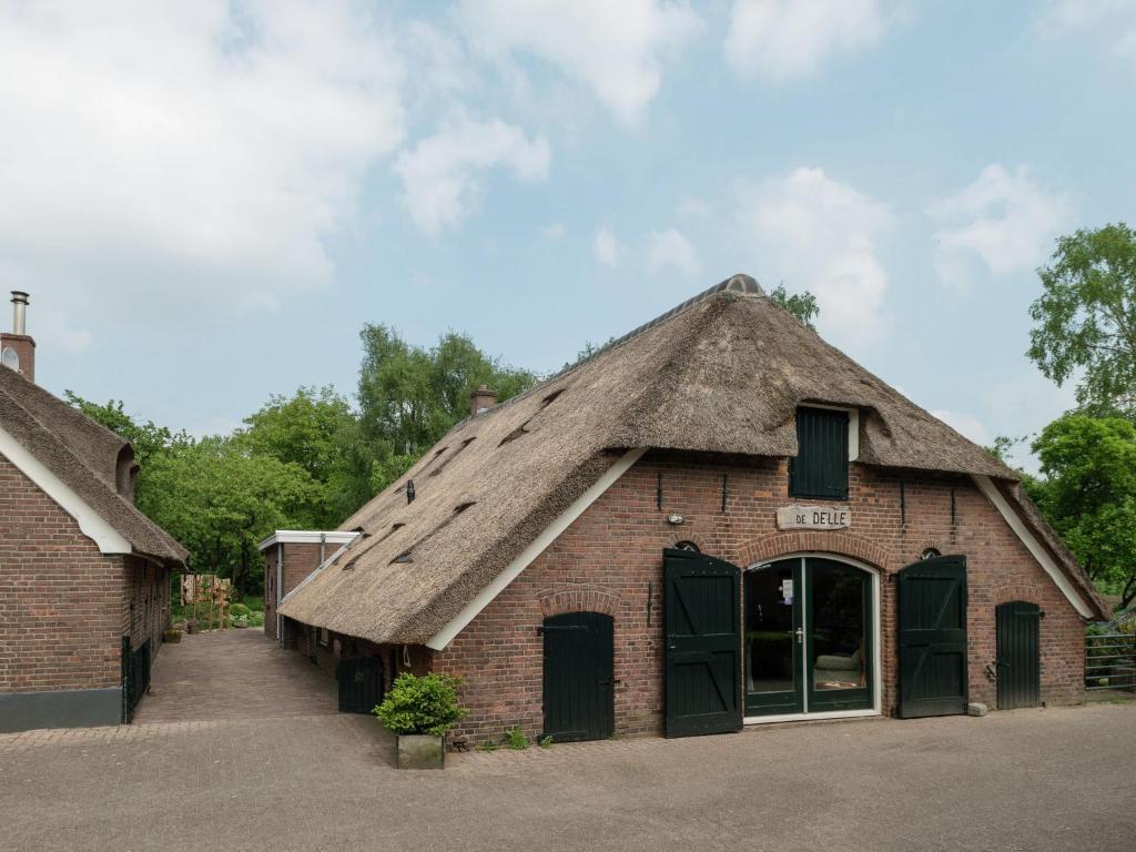
{"type": "Polygon", "coordinates": [[[373,711],[398,740],[399,769],[442,769],[445,734],[466,715],[458,703],[459,679],[448,675],[411,675],[394,679],[373,711]]]}

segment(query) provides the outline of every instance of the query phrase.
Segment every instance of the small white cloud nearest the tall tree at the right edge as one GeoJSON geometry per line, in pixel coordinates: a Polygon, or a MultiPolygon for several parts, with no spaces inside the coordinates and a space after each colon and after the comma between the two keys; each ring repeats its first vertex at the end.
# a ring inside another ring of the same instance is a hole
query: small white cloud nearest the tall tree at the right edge
{"type": "Polygon", "coordinates": [[[959,192],[933,202],[935,265],[947,284],[964,287],[974,260],[995,275],[1028,270],[1042,262],[1053,237],[1072,224],[1072,204],[1046,190],[1027,166],[1009,172],[1000,164],[983,169],[959,192]]]}

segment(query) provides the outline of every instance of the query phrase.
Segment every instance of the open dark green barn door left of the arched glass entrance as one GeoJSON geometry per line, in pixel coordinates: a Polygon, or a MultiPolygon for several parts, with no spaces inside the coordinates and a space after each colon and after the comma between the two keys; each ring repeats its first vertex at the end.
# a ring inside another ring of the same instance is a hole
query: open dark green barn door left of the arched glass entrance
{"type": "Polygon", "coordinates": [[[742,727],[740,577],[720,559],[663,551],[667,736],[742,727]]]}

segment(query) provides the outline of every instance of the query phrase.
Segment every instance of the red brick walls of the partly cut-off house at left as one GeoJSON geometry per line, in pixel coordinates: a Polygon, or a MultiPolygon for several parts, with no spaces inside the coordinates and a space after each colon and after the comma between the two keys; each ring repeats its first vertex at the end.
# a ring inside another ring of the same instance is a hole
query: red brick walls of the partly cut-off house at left
{"type": "Polygon", "coordinates": [[[161,648],[169,571],[105,556],[0,456],[0,693],[117,687],[122,638],[161,648]]]}

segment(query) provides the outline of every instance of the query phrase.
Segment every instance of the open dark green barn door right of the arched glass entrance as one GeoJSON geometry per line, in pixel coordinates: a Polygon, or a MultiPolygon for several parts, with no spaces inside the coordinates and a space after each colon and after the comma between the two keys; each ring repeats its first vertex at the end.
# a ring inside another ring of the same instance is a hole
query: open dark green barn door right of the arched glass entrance
{"type": "Polygon", "coordinates": [[[900,571],[900,716],[967,711],[967,560],[937,557],[900,571]]]}

